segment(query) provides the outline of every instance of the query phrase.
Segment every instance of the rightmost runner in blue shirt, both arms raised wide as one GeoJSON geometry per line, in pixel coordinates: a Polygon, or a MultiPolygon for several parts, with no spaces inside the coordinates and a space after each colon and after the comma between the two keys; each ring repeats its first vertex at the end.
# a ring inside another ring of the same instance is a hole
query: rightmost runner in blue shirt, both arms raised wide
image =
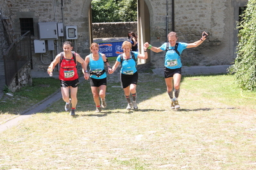
{"type": "Polygon", "coordinates": [[[164,43],[161,47],[153,47],[148,42],[144,43],[144,47],[151,49],[153,52],[161,52],[166,50],[166,55],[164,56],[164,78],[167,86],[167,93],[169,98],[171,98],[171,109],[180,109],[180,104],[178,104],[178,96],[180,94],[180,80],[182,79],[182,61],[180,60],[180,55],[184,49],[189,49],[192,47],[198,47],[206,39],[207,33],[203,32],[201,39],[194,43],[177,43],[178,37],[175,32],[168,34],[167,43],[164,43]],[[167,44],[169,48],[166,49],[167,44]],[[178,45],[178,47],[176,47],[178,45]],[[173,98],[173,86],[175,98],[173,98]]]}

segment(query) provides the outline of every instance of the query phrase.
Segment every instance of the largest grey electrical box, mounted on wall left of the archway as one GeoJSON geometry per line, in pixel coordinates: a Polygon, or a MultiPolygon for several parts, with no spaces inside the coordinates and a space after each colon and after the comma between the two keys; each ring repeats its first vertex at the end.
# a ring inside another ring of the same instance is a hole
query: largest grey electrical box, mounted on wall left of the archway
{"type": "Polygon", "coordinates": [[[56,22],[41,22],[38,23],[39,38],[58,40],[57,23],[56,22]]]}

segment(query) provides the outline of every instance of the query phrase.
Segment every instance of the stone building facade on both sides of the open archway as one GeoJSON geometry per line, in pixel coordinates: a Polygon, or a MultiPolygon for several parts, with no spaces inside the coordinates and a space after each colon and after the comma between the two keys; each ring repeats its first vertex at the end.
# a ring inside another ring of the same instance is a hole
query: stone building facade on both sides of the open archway
{"type": "MultiPolygon", "coordinates": [[[[197,48],[183,51],[183,65],[228,65],[235,59],[237,45],[236,21],[239,8],[248,0],[138,0],[137,31],[142,50],[144,42],[160,47],[167,40],[167,33],[176,31],[178,41],[195,42],[207,31],[209,38],[197,48]]],[[[20,19],[33,19],[34,36],[39,40],[38,22],[63,23],[64,36],[53,40],[54,50],[45,54],[33,52],[35,70],[46,70],[58,52],[62,51],[66,26],[77,26],[77,39],[71,40],[83,58],[90,53],[93,42],[90,13],[91,0],[4,0],[0,12],[8,29],[21,31],[20,19]]],[[[107,15],[107,13],[106,13],[107,15]]],[[[126,36],[126,35],[125,35],[126,36]]],[[[33,49],[33,48],[32,48],[33,49]]],[[[47,48],[46,48],[47,50],[47,48]]],[[[155,68],[163,67],[164,52],[150,52],[149,59],[155,68]]]]}

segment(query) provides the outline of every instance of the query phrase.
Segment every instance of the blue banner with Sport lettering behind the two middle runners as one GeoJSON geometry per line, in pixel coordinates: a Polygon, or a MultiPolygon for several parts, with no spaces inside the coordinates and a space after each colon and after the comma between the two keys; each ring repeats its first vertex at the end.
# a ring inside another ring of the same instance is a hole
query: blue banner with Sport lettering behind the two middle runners
{"type": "Polygon", "coordinates": [[[117,57],[123,53],[122,44],[123,42],[108,42],[98,43],[99,52],[106,55],[107,58],[117,57]]]}

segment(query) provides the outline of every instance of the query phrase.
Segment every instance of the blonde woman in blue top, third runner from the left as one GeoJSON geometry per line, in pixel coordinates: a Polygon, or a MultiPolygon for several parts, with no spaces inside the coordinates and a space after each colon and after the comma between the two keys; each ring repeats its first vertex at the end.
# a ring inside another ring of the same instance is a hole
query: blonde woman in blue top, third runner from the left
{"type": "Polygon", "coordinates": [[[128,102],[126,109],[130,110],[133,107],[134,110],[137,110],[138,106],[136,102],[136,86],[138,81],[138,72],[136,68],[136,60],[137,58],[147,59],[148,52],[146,47],[144,47],[144,55],[131,51],[132,43],[128,41],[123,42],[122,49],[124,50],[124,53],[117,57],[115,65],[112,67],[112,72],[110,73],[115,72],[117,66],[119,66],[121,63],[120,80],[121,86],[124,89],[124,96],[128,102]],[[132,101],[130,98],[131,94],[132,101]]]}

